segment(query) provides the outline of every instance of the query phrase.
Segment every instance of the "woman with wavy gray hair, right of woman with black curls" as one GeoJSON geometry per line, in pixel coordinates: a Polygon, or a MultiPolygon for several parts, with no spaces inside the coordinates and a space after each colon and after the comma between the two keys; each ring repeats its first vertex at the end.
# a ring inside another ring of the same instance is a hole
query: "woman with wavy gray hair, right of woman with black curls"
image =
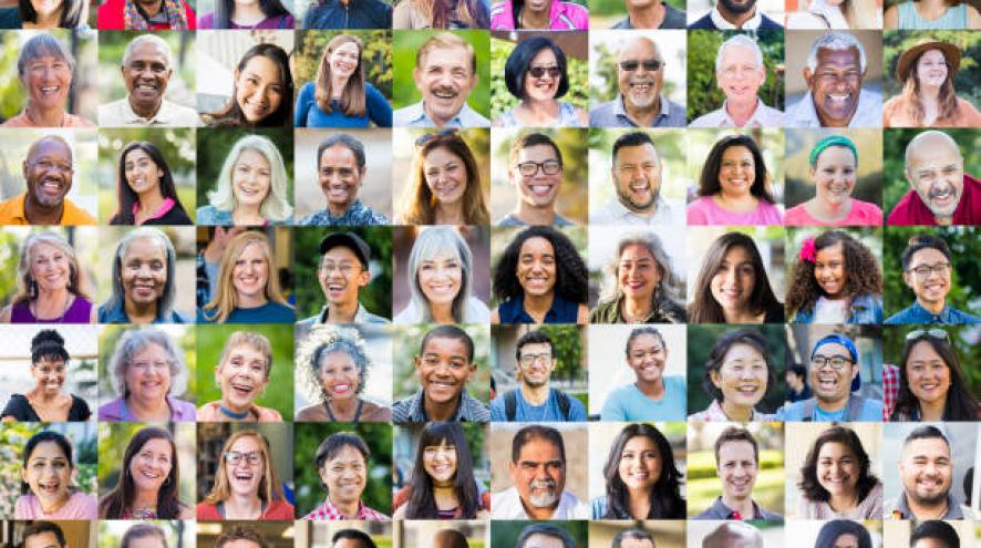
{"type": "Polygon", "coordinates": [[[624,235],[606,268],[590,323],[683,323],[681,280],[654,232],[624,235]]]}

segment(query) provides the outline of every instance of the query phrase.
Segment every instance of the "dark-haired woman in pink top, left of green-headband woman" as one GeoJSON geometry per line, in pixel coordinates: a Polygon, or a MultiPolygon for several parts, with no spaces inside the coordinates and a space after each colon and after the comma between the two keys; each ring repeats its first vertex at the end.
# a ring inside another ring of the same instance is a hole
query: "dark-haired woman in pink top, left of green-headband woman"
{"type": "Polygon", "coordinates": [[[689,225],[783,225],[770,190],[763,153],[747,135],[721,138],[699,177],[699,198],[688,206],[689,225]]]}

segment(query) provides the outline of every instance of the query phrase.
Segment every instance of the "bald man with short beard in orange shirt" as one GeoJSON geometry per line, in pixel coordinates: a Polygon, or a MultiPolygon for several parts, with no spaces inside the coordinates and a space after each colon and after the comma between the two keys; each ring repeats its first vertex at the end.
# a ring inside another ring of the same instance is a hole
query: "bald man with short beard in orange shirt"
{"type": "Polygon", "coordinates": [[[65,139],[41,137],[21,166],[27,192],[0,203],[0,225],[94,225],[95,217],[65,196],[75,166],[65,139]]]}

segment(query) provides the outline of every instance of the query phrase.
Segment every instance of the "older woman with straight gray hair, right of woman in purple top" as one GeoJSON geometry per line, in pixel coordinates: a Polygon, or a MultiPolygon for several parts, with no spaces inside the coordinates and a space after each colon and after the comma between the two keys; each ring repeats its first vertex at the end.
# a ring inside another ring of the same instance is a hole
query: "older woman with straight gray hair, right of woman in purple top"
{"type": "Polygon", "coordinates": [[[174,310],[177,252],[152,227],[126,232],[113,257],[113,294],[99,307],[99,323],[190,323],[174,310]]]}

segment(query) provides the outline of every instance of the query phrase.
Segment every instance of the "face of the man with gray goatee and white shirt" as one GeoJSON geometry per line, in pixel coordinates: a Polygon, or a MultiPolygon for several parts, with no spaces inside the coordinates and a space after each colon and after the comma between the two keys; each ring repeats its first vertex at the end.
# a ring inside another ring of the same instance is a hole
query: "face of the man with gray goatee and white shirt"
{"type": "Polygon", "coordinates": [[[508,463],[508,472],[522,502],[534,508],[555,506],[566,487],[566,463],[559,448],[540,437],[522,446],[518,462],[508,463]]]}

